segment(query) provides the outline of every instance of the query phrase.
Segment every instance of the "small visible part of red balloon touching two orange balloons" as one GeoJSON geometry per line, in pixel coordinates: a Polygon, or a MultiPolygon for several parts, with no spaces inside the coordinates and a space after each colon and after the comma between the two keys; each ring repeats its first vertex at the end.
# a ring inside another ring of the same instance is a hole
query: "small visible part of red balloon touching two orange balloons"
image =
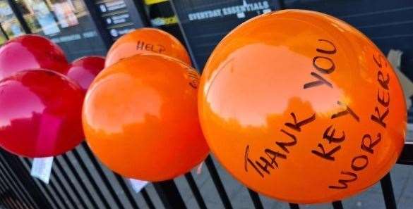
{"type": "Polygon", "coordinates": [[[104,68],[104,57],[85,56],[73,61],[68,68],[67,76],[78,82],[80,87],[88,90],[93,79],[104,68]]]}

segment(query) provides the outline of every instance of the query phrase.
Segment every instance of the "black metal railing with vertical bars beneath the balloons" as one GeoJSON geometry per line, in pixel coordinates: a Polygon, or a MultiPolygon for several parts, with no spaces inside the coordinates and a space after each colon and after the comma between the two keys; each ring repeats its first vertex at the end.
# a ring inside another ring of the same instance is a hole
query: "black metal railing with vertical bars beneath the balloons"
{"type": "MultiPolygon", "coordinates": [[[[413,143],[407,142],[397,163],[413,165],[413,143]]],[[[78,148],[54,159],[49,184],[30,176],[32,160],[0,151],[0,204],[4,208],[188,208],[189,198],[183,198],[174,180],[152,184],[136,194],[128,181],[110,172],[93,156],[83,143],[78,148]]],[[[221,208],[234,208],[225,184],[217,171],[213,158],[205,160],[210,178],[222,203],[221,208]]],[[[205,171],[204,171],[205,172],[205,171]]],[[[191,172],[184,175],[198,208],[208,208],[191,172]]],[[[385,208],[397,208],[390,174],[381,179],[385,208]]],[[[249,208],[264,208],[261,197],[246,189],[251,198],[249,208]]],[[[342,202],[331,203],[333,208],[343,208],[342,202]]],[[[300,205],[289,203],[289,208],[300,205]]],[[[400,208],[403,209],[403,208],[400,208]]]]}

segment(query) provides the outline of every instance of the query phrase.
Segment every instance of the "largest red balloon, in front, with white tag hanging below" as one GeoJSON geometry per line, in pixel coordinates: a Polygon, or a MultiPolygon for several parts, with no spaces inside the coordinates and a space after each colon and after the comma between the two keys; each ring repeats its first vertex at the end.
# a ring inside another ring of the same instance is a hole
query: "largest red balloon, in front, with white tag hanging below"
{"type": "Polygon", "coordinates": [[[0,81],[0,146],[30,158],[57,156],[83,141],[84,91],[52,70],[0,81]]]}

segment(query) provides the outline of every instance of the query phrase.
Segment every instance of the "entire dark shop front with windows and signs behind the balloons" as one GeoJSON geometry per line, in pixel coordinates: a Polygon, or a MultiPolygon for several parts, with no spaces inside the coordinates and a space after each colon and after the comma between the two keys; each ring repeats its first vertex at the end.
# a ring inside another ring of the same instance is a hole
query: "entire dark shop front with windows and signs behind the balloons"
{"type": "Polygon", "coordinates": [[[402,0],[0,0],[0,44],[21,34],[40,34],[73,61],[104,56],[116,39],[135,28],[158,27],[183,42],[194,67],[202,70],[234,27],[290,8],[334,15],[364,32],[383,53],[402,51],[400,70],[413,77],[413,2],[402,0]]]}

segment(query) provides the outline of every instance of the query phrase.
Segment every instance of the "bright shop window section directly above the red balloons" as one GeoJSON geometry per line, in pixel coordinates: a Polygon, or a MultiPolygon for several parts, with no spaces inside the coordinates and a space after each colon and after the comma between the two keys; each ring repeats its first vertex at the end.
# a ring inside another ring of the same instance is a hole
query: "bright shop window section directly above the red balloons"
{"type": "Polygon", "coordinates": [[[106,49],[81,0],[16,0],[32,33],[52,39],[69,60],[106,49]]]}

